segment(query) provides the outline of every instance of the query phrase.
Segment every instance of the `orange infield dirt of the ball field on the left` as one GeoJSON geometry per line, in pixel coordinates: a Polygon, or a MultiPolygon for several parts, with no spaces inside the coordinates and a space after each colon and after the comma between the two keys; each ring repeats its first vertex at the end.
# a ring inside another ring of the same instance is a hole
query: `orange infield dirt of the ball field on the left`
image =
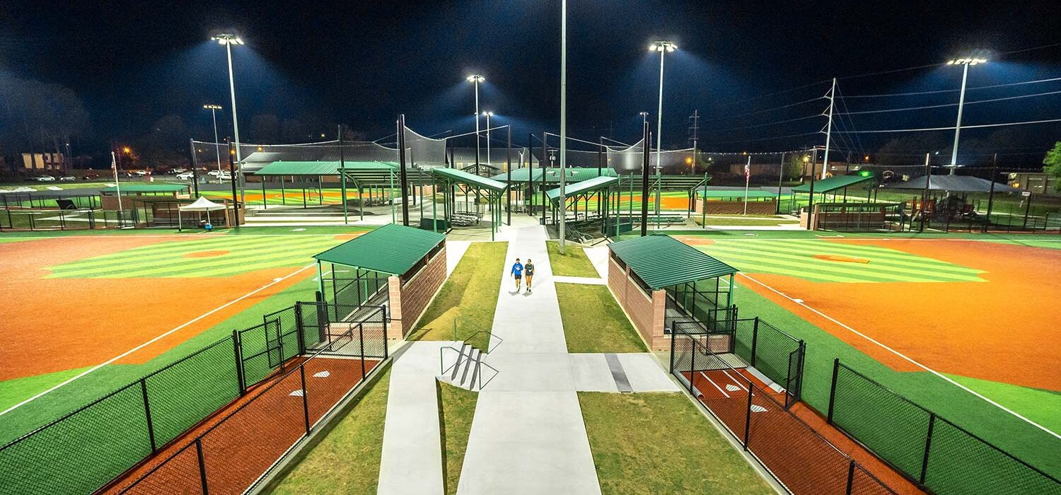
{"type": "MultiPolygon", "coordinates": [[[[184,236],[44,238],[3,246],[0,273],[0,381],[84,368],[111,359],[297,268],[225,278],[41,279],[54,266],[184,236]]],[[[302,269],[203,317],[122,359],[145,363],[174,346],[310,277],[302,269]]]]}

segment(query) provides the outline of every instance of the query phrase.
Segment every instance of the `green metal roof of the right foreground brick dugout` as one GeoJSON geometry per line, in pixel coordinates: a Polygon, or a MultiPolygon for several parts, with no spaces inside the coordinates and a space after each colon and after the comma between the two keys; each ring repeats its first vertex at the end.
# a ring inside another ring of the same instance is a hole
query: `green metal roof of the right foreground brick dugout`
{"type": "Polygon", "coordinates": [[[609,244],[608,248],[654,290],[737,271],[669,235],[620,241],[609,244]]]}

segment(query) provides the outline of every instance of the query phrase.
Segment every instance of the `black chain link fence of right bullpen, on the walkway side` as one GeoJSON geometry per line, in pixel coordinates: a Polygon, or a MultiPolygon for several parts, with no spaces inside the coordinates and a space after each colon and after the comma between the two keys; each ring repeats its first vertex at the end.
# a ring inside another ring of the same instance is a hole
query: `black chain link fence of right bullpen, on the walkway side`
{"type": "Polygon", "coordinates": [[[782,393],[710,349],[707,335],[679,326],[672,337],[671,373],[789,493],[894,493],[793,414],[782,393]]]}

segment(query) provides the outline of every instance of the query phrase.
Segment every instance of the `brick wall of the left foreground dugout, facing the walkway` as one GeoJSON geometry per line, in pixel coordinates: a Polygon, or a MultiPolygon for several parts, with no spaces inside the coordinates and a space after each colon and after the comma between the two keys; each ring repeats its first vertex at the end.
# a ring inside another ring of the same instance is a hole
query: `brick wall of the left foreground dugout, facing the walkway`
{"type": "Polygon", "coordinates": [[[390,297],[390,325],[387,326],[387,338],[404,338],[408,334],[443,281],[446,281],[445,245],[404,285],[398,277],[387,279],[387,291],[390,297]]]}

